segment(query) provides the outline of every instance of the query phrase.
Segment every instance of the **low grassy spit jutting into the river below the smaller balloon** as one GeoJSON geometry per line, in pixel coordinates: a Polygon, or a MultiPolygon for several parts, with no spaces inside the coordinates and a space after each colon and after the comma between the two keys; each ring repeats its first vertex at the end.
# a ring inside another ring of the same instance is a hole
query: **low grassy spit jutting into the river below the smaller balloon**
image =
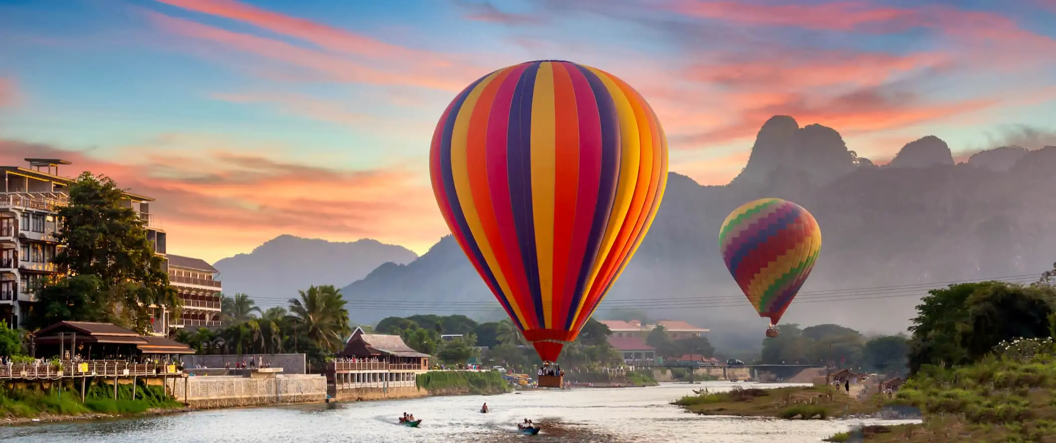
{"type": "Polygon", "coordinates": [[[701,392],[686,396],[672,404],[704,416],[774,417],[781,419],[827,419],[872,413],[883,403],[859,401],[826,386],[777,389],[734,389],[725,392],[701,392]],[[831,394],[830,394],[831,393],[831,394]]]}

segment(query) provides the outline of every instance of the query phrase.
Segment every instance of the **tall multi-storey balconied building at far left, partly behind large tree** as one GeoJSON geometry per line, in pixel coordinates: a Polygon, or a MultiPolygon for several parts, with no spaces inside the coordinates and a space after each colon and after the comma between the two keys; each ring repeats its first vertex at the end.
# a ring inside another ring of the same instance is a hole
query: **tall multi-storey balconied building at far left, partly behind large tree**
{"type": "MultiPolygon", "coordinates": [[[[58,158],[26,158],[30,168],[0,167],[0,320],[20,325],[36,301],[35,289],[43,278],[58,274],[55,255],[62,245],[59,208],[69,205],[73,178],[58,175],[70,165],[58,158]]],[[[166,234],[150,214],[153,198],[125,193],[125,205],[134,209],[147,227],[154,252],[165,256],[166,234]]]]}

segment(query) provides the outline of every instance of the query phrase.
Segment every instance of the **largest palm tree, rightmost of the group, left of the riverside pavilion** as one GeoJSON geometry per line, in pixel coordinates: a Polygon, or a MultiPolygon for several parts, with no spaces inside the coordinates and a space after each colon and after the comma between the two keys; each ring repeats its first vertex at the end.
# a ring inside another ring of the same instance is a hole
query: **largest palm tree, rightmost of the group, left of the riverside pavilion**
{"type": "Polygon", "coordinates": [[[299,291],[300,298],[289,300],[289,313],[296,320],[297,328],[307,340],[331,352],[341,350],[342,336],[348,327],[348,310],[341,291],[333,285],[313,286],[307,291],[299,291]]]}

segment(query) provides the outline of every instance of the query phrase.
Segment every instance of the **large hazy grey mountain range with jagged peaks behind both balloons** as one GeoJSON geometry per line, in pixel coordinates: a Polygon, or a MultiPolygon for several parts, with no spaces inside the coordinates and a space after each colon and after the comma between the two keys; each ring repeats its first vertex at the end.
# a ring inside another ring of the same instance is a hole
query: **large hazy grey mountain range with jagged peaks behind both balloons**
{"type": "MultiPolygon", "coordinates": [[[[759,343],[766,321],[734,285],[718,255],[717,233],[741,204],[780,197],[809,209],[822,228],[822,254],[803,293],[874,288],[800,296],[785,320],[903,330],[921,291],[892,286],[1040,274],[1051,268],[1056,261],[1056,235],[1048,232],[1056,227],[1053,171],[1056,147],[1002,148],[955,165],[949,148],[935,136],[906,145],[889,166],[876,167],[848,151],[836,131],[799,128],[792,117],[776,116],[763,124],[748,165],[730,185],[700,186],[671,173],[656,222],[606,301],[640,301],[634,305],[654,319],[684,319],[711,328],[713,341],[759,343]],[[875,297],[838,300],[848,295],[875,297]]],[[[353,300],[433,301],[415,312],[458,306],[448,302],[497,309],[450,236],[407,266],[380,267],[344,293],[353,300]]],[[[360,322],[411,313],[350,308],[360,322]]],[[[603,302],[596,315],[611,313],[603,302]]]]}

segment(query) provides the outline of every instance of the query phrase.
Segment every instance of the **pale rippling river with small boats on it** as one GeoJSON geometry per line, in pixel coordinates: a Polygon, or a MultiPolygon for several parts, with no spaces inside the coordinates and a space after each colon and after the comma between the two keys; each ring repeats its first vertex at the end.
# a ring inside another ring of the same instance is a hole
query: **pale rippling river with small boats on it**
{"type": "MultiPolygon", "coordinates": [[[[431,397],[415,400],[206,410],[139,419],[68,422],[0,428],[11,443],[162,442],[599,442],[599,443],[806,443],[861,424],[913,421],[776,420],[704,417],[668,403],[692,389],[732,389],[748,383],[663,384],[645,388],[584,388],[502,396],[431,397]],[[480,413],[487,402],[490,413],[480,413]],[[421,426],[396,425],[403,412],[421,426]],[[516,422],[534,420],[543,430],[516,434],[516,422]],[[530,440],[525,440],[530,439],[530,440]]],[[[756,387],[793,385],[765,384],[756,387]]]]}

